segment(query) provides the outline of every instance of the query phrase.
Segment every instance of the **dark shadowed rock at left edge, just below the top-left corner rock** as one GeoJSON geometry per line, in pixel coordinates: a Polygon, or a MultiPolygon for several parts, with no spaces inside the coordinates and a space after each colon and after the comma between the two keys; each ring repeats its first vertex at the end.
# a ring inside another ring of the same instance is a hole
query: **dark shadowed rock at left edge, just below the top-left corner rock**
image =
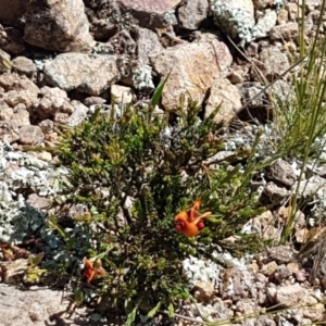
{"type": "Polygon", "coordinates": [[[14,27],[4,28],[0,24],[0,47],[8,53],[17,55],[25,50],[23,36],[24,35],[20,29],[14,27]]]}

